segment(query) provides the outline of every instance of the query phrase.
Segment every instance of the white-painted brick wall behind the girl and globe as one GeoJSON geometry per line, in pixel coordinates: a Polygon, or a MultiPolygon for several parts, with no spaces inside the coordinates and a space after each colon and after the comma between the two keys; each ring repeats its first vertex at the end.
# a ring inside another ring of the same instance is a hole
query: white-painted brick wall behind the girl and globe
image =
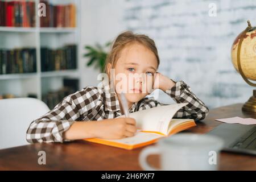
{"type": "MultiPolygon", "coordinates": [[[[149,35],[160,55],[160,72],[184,80],[210,108],[245,102],[253,87],[235,71],[230,48],[246,28],[256,26],[256,1],[126,0],[127,29],[149,35]],[[209,3],[217,16],[210,17],[209,3]]],[[[161,94],[160,101],[166,96],[161,94]]]]}

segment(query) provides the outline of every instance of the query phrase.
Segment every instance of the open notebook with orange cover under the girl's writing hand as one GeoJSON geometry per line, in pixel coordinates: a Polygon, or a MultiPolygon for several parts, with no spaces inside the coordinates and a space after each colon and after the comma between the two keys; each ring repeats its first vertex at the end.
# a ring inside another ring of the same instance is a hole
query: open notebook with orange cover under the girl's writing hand
{"type": "MultiPolygon", "coordinates": [[[[159,138],[168,137],[179,131],[196,126],[193,119],[173,119],[174,114],[188,103],[164,105],[130,113],[136,120],[137,133],[133,137],[122,139],[87,138],[89,142],[132,150],[155,143],[159,138]]],[[[122,115],[121,117],[124,117],[122,115]]]]}

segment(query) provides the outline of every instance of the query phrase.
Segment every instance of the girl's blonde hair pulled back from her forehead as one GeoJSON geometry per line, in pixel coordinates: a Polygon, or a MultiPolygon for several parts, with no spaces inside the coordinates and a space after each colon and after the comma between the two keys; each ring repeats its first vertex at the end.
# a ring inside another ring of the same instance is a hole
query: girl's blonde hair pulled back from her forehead
{"type": "Polygon", "coordinates": [[[131,43],[140,43],[146,48],[150,49],[156,56],[156,60],[158,61],[159,66],[159,56],[158,56],[158,49],[155,46],[154,40],[149,38],[146,35],[143,34],[134,34],[132,31],[125,31],[122,34],[119,34],[117,38],[115,39],[112,48],[106,58],[105,62],[105,73],[108,73],[108,64],[110,63],[112,65],[112,68],[114,68],[115,63],[117,63],[117,60],[119,58],[120,52],[122,51],[125,46],[131,43]]]}

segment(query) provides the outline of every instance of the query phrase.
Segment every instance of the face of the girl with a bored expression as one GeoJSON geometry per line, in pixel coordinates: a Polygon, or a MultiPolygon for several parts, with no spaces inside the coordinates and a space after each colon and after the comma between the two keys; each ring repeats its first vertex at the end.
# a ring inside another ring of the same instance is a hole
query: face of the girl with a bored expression
{"type": "Polygon", "coordinates": [[[152,92],[157,68],[158,61],[150,49],[139,43],[127,45],[114,67],[115,92],[125,93],[129,104],[138,102],[152,92]]]}

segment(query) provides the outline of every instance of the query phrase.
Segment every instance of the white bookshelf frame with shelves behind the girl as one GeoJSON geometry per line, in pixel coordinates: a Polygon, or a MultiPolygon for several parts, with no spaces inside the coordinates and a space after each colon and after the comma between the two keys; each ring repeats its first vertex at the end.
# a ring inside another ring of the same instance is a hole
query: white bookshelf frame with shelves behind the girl
{"type": "MultiPolygon", "coordinates": [[[[2,0],[1,0],[2,1],[2,0]]],[[[35,2],[38,11],[40,0],[35,2]]],[[[13,94],[15,97],[27,97],[34,94],[42,100],[43,94],[61,89],[63,78],[77,78],[80,83],[80,2],[81,0],[49,0],[52,5],[76,6],[76,27],[40,27],[40,17],[35,16],[35,27],[0,26],[0,49],[35,48],[36,72],[0,74],[0,95],[13,94]],[[41,48],[57,49],[76,44],[76,69],[63,69],[42,72],[41,48]]],[[[81,85],[79,85],[81,89],[81,85]]]]}

